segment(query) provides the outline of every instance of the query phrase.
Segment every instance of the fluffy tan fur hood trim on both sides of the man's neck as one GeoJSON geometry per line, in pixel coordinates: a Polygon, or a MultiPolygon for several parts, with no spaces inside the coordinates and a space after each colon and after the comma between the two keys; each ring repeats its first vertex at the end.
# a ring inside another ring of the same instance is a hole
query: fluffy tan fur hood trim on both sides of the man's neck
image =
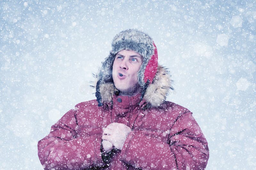
{"type": "MultiPolygon", "coordinates": [[[[170,91],[173,90],[171,74],[167,68],[158,64],[156,76],[151,84],[149,84],[144,100],[150,103],[151,106],[159,106],[166,100],[166,97],[170,91]]],[[[111,102],[116,92],[116,88],[113,82],[100,84],[100,96],[102,102],[111,102]]]]}

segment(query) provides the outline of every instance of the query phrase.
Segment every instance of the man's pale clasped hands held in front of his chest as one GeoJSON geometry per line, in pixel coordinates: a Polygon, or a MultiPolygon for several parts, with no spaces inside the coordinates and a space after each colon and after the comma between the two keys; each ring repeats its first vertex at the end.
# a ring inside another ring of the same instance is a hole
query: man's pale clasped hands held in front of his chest
{"type": "Polygon", "coordinates": [[[131,131],[131,128],[125,124],[109,124],[102,133],[104,150],[109,152],[113,147],[122,150],[124,142],[131,131]]]}

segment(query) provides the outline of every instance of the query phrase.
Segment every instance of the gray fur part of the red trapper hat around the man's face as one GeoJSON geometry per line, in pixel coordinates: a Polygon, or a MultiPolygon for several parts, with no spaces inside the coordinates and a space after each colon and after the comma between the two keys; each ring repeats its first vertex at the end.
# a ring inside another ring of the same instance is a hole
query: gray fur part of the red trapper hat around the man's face
{"type": "Polygon", "coordinates": [[[140,70],[138,71],[138,83],[140,87],[144,87],[145,68],[155,51],[155,46],[153,43],[153,40],[151,37],[149,37],[148,34],[136,29],[129,29],[118,33],[112,41],[112,50],[110,51],[105,61],[102,63],[102,68],[99,73],[101,80],[100,83],[113,81],[112,67],[116,54],[122,50],[132,50],[136,53],[139,53],[143,57],[143,63],[140,67],[140,70]]]}

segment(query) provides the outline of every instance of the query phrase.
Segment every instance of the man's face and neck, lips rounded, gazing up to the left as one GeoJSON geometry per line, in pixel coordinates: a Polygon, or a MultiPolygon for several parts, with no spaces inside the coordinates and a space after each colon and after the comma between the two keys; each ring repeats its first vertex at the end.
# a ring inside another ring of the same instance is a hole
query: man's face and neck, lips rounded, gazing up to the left
{"type": "Polygon", "coordinates": [[[142,64],[142,56],[134,51],[122,50],[116,54],[112,76],[116,89],[122,96],[134,96],[139,93],[137,72],[142,64]]]}

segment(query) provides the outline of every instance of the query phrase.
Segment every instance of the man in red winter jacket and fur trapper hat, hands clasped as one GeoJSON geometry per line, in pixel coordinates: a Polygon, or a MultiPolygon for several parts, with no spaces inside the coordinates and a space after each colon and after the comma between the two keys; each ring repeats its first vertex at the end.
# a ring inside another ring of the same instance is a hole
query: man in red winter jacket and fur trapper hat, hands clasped
{"type": "Polygon", "coordinates": [[[44,169],[205,169],[209,149],[192,113],[165,101],[171,75],[144,32],[118,33],[79,103],[38,142],[44,169]]]}

